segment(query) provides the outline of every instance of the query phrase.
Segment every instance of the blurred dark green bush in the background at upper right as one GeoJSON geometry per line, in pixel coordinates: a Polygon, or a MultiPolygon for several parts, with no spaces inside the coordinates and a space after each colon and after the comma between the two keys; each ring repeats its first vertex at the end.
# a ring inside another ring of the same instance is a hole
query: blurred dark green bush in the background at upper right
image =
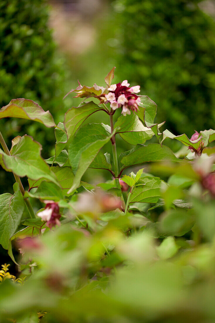
{"type": "Polygon", "coordinates": [[[189,136],[215,121],[215,23],[197,0],[117,0],[109,43],[118,76],[158,104],[157,122],[189,136]],[[116,23],[115,22],[115,23],[116,23]],[[115,38],[114,38],[115,37],[115,38]]]}

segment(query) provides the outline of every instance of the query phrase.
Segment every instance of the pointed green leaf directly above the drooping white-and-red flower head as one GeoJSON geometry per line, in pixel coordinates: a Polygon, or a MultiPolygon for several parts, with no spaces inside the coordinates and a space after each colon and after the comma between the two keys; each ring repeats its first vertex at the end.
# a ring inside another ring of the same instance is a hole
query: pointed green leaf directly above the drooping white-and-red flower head
{"type": "Polygon", "coordinates": [[[61,189],[55,183],[43,181],[35,193],[26,192],[25,197],[31,196],[42,200],[59,201],[64,198],[61,189]]]}

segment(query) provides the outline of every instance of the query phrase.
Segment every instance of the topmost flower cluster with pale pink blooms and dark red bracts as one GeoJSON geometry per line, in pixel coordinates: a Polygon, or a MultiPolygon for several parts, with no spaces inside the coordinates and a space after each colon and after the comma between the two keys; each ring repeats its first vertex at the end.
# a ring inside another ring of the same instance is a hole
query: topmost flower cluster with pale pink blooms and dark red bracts
{"type": "Polygon", "coordinates": [[[135,94],[140,92],[140,86],[136,85],[129,88],[129,85],[127,80],[122,83],[112,84],[108,88],[108,94],[105,95],[110,107],[113,110],[122,108],[124,116],[131,114],[130,110],[137,112],[140,103],[140,98],[135,94]]]}

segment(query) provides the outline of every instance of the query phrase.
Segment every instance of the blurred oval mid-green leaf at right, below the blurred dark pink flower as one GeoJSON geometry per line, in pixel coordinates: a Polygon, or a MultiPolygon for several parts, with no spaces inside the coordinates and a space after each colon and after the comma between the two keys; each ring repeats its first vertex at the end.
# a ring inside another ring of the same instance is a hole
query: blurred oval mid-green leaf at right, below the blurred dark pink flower
{"type": "Polygon", "coordinates": [[[160,232],[165,235],[182,236],[194,225],[190,210],[177,209],[164,213],[160,221],[160,232]]]}

